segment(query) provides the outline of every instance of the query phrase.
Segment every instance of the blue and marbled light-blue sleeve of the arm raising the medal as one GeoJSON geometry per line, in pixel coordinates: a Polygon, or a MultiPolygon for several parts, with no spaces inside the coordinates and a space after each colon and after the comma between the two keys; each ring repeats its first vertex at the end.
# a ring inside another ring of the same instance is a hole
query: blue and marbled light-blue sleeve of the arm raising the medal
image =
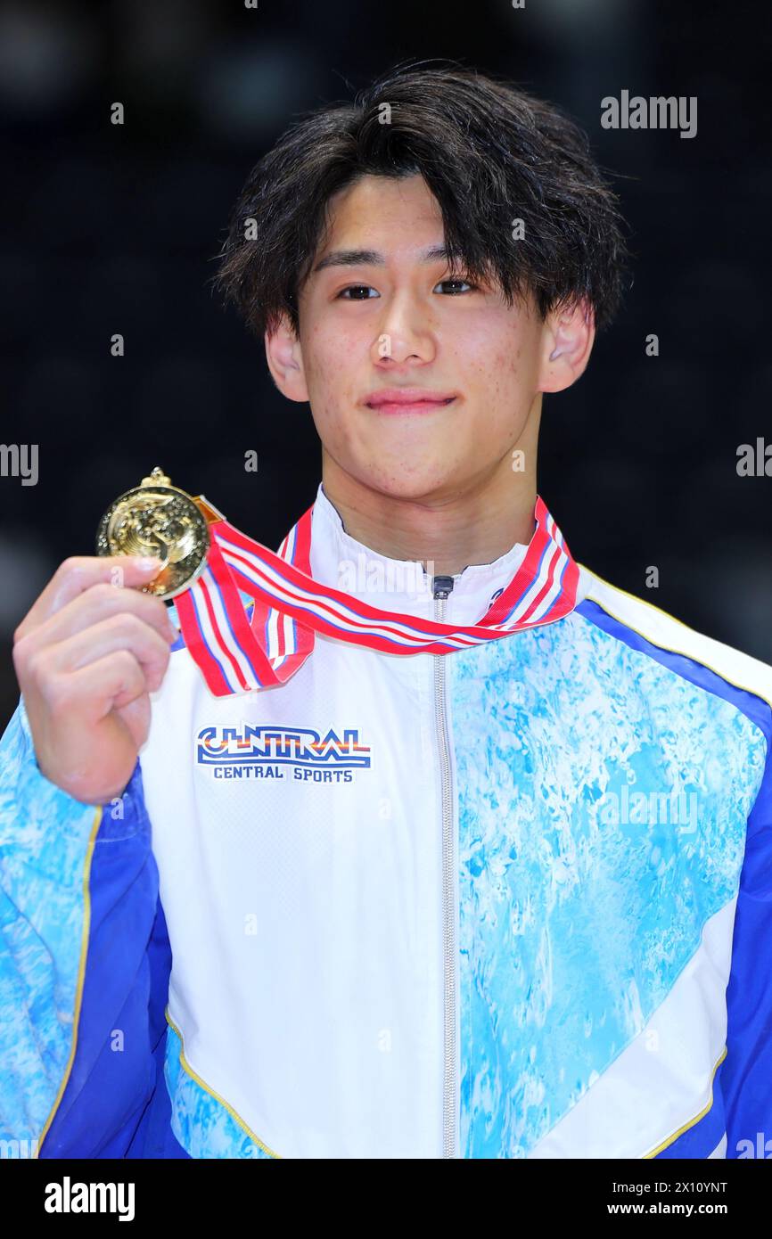
{"type": "Polygon", "coordinates": [[[170,963],[139,760],[123,797],[82,804],[41,773],[20,699],[0,738],[0,1139],[11,1151],[125,1156],[156,1084],[170,963]]]}

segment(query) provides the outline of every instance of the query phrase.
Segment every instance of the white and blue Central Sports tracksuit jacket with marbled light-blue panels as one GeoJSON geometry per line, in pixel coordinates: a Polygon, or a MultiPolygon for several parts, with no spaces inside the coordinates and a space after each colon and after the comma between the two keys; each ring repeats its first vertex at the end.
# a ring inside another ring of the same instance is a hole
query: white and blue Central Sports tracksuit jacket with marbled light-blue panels
{"type": "MultiPolygon", "coordinates": [[[[418,591],[314,504],[314,577],[403,615],[525,550],[418,591]]],[[[772,668],[580,565],[556,622],[249,694],[180,637],[151,700],[105,805],[22,698],[0,741],[9,1156],[772,1156],[772,668]]]]}

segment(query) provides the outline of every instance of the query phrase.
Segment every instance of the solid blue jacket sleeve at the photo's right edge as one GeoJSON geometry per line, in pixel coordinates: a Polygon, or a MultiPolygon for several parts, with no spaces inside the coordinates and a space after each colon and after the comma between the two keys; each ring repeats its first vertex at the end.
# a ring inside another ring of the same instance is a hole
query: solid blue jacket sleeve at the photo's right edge
{"type": "Polygon", "coordinates": [[[726,1156],[772,1157],[772,752],[748,817],[726,990],[726,1156]]]}

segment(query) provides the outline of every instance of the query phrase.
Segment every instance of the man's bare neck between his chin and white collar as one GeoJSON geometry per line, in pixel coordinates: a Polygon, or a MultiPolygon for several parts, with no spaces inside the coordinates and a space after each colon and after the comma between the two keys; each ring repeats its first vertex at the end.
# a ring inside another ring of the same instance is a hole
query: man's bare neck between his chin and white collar
{"type": "Polygon", "coordinates": [[[373,491],[322,451],[322,487],[346,533],[390,559],[418,560],[432,576],[492,564],[534,533],[535,477],[506,457],[463,493],[403,499],[373,491]]]}

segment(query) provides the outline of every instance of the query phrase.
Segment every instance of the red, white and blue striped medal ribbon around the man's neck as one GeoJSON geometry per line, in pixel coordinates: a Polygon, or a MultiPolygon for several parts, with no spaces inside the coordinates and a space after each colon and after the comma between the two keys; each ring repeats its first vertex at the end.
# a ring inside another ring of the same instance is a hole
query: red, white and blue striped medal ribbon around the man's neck
{"type": "Polygon", "coordinates": [[[216,696],[284,684],[314,650],[316,632],[389,654],[450,654],[554,623],[576,606],[579,569],[539,496],[523,563],[470,626],[382,611],[315,581],[312,513],[314,504],[278,553],[228,520],[209,525],[206,566],[175,603],[187,649],[216,696]],[[239,590],[254,600],[249,620],[239,590]]]}

